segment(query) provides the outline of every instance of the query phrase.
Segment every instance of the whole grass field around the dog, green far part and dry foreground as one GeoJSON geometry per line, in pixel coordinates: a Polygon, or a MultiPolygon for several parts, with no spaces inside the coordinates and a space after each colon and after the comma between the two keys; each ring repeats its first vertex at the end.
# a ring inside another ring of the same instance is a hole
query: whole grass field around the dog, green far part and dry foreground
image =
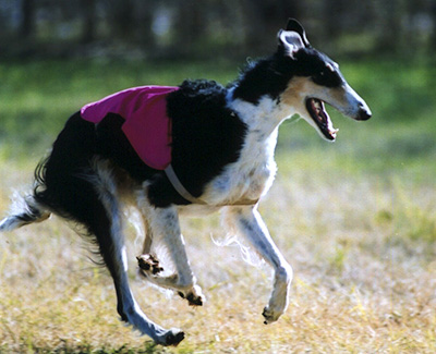
{"type": "MultiPolygon", "coordinates": [[[[82,105],[144,84],[206,77],[230,63],[28,62],[0,64],[0,215],[14,190],[82,105]]],[[[373,119],[331,112],[338,141],[287,122],[279,173],[259,210],[294,269],[289,309],[264,326],[270,269],[219,247],[219,218],[183,219],[201,308],[136,277],[142,237],[126,227],[131,283],[144,312],[186,339],[155,346],[117,317],[106,270],[57,218],[0,235],[0,352],[23,353],[435,353],[435,66],[347,62],[373,119]]]]}

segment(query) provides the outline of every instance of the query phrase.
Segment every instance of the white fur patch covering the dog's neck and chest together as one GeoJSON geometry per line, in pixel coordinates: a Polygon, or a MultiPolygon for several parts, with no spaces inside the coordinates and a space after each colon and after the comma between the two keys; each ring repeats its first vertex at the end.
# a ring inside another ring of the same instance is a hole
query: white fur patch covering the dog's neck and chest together
{"type": "Polygon", "coordinates": [[[277,172],[274,152],[278,126],[294,113],[267,96],[256,106],[233,100],[230,93],[228,106],[247,125],[247,135],[239,160],[206,186],[202,199],[208,205],[256,200],[268,192],[277,172]]]}

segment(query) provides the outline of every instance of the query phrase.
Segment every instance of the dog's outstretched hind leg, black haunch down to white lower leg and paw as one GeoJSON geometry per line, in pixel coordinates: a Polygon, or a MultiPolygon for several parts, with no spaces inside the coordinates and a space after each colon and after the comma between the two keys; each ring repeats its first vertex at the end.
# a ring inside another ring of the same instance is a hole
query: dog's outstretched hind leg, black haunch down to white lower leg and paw
{"type": "Polygon", "coordinates": [[[128,282],[121,210],[110,167],[95,158],[95,126],[73,115],[36,171],[34,200],[75,221],[96,239],[117,291],[118,313],[141,333],[164,345],[177,345],[184,334],[150,321],[133,297],[128,282]]]}

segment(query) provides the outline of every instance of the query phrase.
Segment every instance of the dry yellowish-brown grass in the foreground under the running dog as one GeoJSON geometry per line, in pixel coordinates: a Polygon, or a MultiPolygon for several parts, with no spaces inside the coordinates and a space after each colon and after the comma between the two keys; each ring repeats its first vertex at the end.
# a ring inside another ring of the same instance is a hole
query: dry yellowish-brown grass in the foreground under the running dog
{"type": "MultiPolygon", "coordinates": [[[[436,192],[427,182],[350,172],[330,156],[279,161],[261,204],[294,268],[291,304],[263,325],[270,270],[218,247],[218,217],[183,220],[192,267],[207,303],[192,308],[135,274],[141,239],[128,228],[131,281],[144,312],[186,339],[154,346],[117,318],[111,279],[86,242],[59,219],[0,237],[0,350],[9,352],[434,353],[436,192]]],[[[0,170],[0,211],[31,169],[0,170]],[[24,172],[25,171],[25,172],[24,172]]],[[[425,169],[424,169],[425,170],[425,169]]]]}

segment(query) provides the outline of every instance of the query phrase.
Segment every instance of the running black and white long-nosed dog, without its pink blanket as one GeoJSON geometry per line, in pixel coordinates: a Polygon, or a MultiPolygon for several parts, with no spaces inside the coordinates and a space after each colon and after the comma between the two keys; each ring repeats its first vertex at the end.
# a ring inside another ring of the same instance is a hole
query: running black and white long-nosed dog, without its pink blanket
{"type": "Polygon", "coordinates": [[[122,320],[156,343],[177,345],[184,333],[150,321],[132,295],[122,206],[135,206],[146,230],[140,271],[191,305],[202,305],[204,298],[186,257],[179,213],[220,210],[229,230],[245,236],[275,270],[263,312],[265,324],[274,322],[288,306],[292,269],[272,242],[257,203],[275,179],[278,127],[299,114],[325,139],[335,141],[337,130],[325,102],[354,120],[370,119],[371,111],[338,64],[310,45],[295,20],[278,33],[277,51],[250,64],[228,87],[185,81],[166,99],[170,169],[143,162],[121,129],[124,118],[109,113],[95,124],[77,112],[36,169],[36,186],[24,198],[25,207],[3,219],[0,230],[43,221],[50,212],[82,224],[113,278],[122,320]],[[164,270],[152,253],[156,242],[167,248],[174,271],[164,270]]]}

